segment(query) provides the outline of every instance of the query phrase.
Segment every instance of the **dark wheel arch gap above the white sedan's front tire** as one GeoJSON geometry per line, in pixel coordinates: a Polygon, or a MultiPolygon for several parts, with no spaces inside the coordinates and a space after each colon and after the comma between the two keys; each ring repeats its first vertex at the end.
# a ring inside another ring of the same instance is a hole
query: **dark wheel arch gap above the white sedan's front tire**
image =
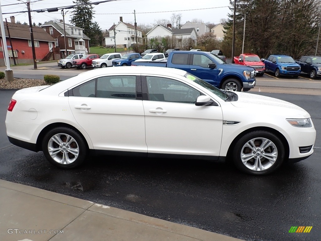
{"type": "Polygon", "coordinates": [[[290,147],[289,147],[289,143],[287,141],[287,139],[285,138],[285,136],[282,135],[281,132],[277,131],[276,129],[273,129],[271,127],[266,127],[266,126],[258,126],[258,127],[253,127],[247,130],[242,131],[241,133],[239,133],[239,135],[237,135],[233,141],[230,144],[230,147],[227,151],[227,159],[230,158],[231,152],[233,150],[233,148],[235,147],[236,142],[245,134],[252,132],[252,131],[257,131],[257,130],[264,130],[264,131],[268,131],[271,132],[272,134],[274,134],[275,136],[277,136],[278,138],[280,138],[281,142],[284,145],[284,149],[285,149],[285,159],[289,158],[290,155],[290,147]]]}

